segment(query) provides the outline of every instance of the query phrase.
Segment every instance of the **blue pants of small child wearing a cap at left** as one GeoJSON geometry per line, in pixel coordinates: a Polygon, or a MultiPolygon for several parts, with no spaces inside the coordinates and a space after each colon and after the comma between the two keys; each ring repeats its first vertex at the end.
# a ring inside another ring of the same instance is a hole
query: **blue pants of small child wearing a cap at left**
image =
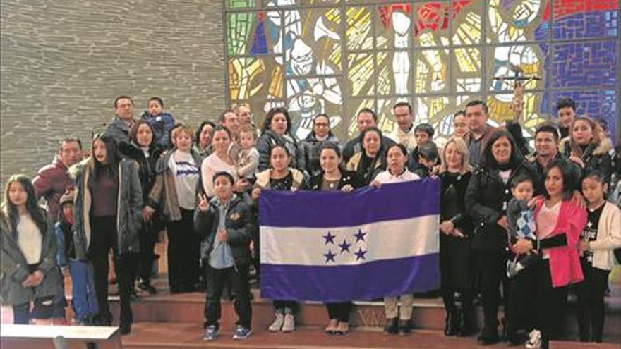
{"type": "Polygon", "coordinates": [[[92,264],[83,261],[69,261],[71,273],[71,307],[76,313],[76,319],[84,321],[97,315],[97,297],[95,297],[95,283],[92,276],[92,264]]]}

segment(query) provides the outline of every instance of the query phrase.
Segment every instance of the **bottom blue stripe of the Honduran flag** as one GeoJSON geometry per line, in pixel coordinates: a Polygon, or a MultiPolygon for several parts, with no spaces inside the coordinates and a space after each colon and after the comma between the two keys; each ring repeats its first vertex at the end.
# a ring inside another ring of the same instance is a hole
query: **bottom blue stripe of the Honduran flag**
{"type": "Polygon", "coordinates": [[[345,302],[435,290],[440,287],[439,256],[330,267],[261,264],[261,298],[345,302]]]}

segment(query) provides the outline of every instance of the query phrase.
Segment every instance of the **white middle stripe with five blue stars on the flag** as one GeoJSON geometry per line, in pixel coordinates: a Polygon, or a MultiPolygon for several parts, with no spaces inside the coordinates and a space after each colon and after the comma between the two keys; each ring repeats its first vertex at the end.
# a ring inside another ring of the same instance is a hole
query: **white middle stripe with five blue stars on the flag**
{"type": "Polygon", "coordinates": [[[261,263],[355,265],[437,253],[439,219],[430,215],[337,228],[261,226],[261,263]]]}

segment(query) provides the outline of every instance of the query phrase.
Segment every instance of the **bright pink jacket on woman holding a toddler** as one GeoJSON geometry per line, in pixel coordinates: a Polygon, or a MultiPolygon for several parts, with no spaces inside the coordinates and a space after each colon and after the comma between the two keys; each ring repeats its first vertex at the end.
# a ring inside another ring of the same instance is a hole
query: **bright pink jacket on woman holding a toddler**
{"type": "MultiPolygon", "coordinates": [[[[537,219],[542,206],[543,200],[536,203],[535,219],[537,219]]],[[[569,283],[577,283],[584,279],[576,248],[584,226],[586,226],[586,210],[573,202],[561,202],[556,226],[550,237],[565,234],[567,246],[548,249],[553,287],[567,286],[569,283]]]]}

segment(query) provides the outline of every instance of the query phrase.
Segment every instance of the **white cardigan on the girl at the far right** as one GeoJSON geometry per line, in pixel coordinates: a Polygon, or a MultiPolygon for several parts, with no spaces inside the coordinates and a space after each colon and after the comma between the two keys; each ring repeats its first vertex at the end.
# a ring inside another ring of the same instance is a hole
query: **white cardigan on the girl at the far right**
{"type": "Polygon", "coordinates": [[[621,247],[621,211],[615,204],[606,202],[597,225],[597,239],[589,243],[593,251],[593,267],[603,270],[613,269],[615,255],[613,250],[621,247]]]}

